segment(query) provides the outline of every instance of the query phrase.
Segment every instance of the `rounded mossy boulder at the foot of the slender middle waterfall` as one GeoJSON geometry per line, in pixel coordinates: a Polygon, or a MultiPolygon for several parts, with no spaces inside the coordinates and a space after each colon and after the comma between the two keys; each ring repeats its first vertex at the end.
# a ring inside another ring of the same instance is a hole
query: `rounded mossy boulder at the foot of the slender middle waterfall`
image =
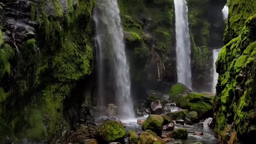
{"type": "Polygon", "coordinates": [[[180,101],[178,99],[184,95],[187,95],[189,92],[191,92],[191,90],[186,85],[178,83],[171,87],[169,100],[176,102],[176,105],[179,106],[180,101]]]}

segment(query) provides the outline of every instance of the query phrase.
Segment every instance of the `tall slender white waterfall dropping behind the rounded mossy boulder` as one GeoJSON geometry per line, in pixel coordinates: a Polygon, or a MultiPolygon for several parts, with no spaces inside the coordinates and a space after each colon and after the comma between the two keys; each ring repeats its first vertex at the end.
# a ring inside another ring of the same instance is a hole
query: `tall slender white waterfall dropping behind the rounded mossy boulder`
{"type": "Polygon", "coordinates": [[[192,87],[190,65],[190,31],[186,0],[174,0],[176,26],[176,57],[178,82],[192,87]]]}

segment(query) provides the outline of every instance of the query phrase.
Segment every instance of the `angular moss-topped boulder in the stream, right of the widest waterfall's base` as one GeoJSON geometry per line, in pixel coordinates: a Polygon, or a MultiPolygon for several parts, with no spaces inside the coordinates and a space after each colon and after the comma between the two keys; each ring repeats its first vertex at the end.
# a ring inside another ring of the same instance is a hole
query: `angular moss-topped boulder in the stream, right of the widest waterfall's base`
{"type": "Polygon", "coordinates": [[[164,119],[159,115],[149,115],[146,121],[142,124],[142,130],[152,130],[159,136],[162,135],[164,119]]]}

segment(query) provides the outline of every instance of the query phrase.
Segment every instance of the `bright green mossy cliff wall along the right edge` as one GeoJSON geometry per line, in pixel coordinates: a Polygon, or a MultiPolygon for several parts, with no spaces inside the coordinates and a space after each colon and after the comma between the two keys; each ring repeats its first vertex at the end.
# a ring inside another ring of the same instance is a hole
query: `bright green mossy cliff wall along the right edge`
{"type": "Polygon", "coordinates": [[[256,136],[256,2],[232,0],[217,60],[215,134],[222,144],[252,143],[256,136]]]}

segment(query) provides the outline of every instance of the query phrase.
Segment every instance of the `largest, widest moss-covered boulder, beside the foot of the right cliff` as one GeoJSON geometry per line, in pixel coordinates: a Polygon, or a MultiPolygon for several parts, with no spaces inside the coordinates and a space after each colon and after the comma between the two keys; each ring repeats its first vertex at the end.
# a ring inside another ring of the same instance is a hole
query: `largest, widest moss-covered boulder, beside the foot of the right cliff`
{"type": "Polygon", "coordinates": [[[187,95],[178,97],[180,108],[196,111],[200,119],[213,117],[214,95],[207,93],[190,92],[187,95]]]}

